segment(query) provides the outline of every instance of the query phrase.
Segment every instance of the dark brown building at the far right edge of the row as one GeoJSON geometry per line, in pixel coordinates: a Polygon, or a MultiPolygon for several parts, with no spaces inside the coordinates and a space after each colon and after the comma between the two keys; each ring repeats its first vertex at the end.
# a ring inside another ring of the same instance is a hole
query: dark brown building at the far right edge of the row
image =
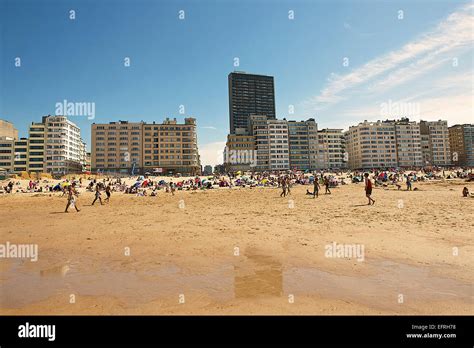
{"type": "Polygon", "coordinates": [[[474,167],[474,124],[449,127],[449,145],[454,165],[474,167]]]}

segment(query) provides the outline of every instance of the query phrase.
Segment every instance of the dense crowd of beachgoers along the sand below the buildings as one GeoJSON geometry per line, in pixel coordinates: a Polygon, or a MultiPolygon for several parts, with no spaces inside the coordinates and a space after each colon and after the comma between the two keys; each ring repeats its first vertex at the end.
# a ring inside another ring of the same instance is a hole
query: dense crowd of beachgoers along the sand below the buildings
{"type": "MultiPolygon", "coordinates": [[[[284,171],[284,172],[235,172],[226,174],[214,174],[207,177],[196,176],[194,178],[155,178],[151,176],[140,175],[138,177],[82,177],[65,179],[60,182],[52,182],[48,179],[29,180],[26,187],[21,185],[20,181],[15,182],[9,180],[6,186],[0,187],[1,193],[54,193],[62,192],[62,196],[67,197],[67,205],[65,211],[68,212],[70,207],[74,207],[76,211],[80,211],[77,206],[77,197],[79,189],[85,188],[86,191],[94,193],[94,200],[91,205],[97,201],[101,205],[110,202],[113,192],[131,194],[136,196],[155,197],[159,191],[164,191],[171,195],[175,195],[176,191],[196,191],[210,190],[218,188],[256,188],[256,187],[273,187],[280,188],[280,197],[291,195],[291,187],[293,185],[309,185],[313,189],[306,190],[306,195],[312,198],[318,198],[321,188],[324,187],[324,194],[332,194],[331,189],[339,185],[364,183],[364,190],[368,199],[368,205],[374,205],[375,200],[372,198],[373,187],[381,187],[389,189],[390,187],[397,190],[402,189],[402,185],[406,185],[406,191],[417,191],[417,187],[413,187],[414,183],[443,180],[443,179],[465,179],[466,181],[474,180],[472,169],[456,168],[450,169],[448,173],[443,168],[431,168],[413,170],[372,170],[368,172],[302,172],[302,171],[284,171]],[[85,182],[88,184],[83,186],[85,182]],[[132,182],[132,184],[127,184],[132,182]],[[106,198],[102,199],[102,193],[106,198]]],[[[469,189],[464,187],[462,190],[463,197],[474,197],[473,193],[469,193],[469,189]]]]}

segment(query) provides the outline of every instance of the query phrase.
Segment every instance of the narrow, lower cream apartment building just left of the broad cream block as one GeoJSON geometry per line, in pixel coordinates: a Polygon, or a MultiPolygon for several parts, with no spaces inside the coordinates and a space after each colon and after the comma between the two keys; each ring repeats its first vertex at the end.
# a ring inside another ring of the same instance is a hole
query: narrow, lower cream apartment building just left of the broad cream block
{"type": "Polygon", "coordinates": [[[342,129],[325,128],[318,131],[317,169],[345,168],[345,138],[342,129]]]}

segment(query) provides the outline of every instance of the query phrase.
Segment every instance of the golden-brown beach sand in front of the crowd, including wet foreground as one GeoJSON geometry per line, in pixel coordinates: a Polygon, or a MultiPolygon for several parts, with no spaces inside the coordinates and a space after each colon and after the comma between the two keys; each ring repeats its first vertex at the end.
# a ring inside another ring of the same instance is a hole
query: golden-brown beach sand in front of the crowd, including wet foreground
{"type": "Polygon", "coordinates": [[[38,244],[39,259],[0,259],[0,313],[473,314],[469,184],[375,188],[374,206],[363,184],[317,199],[310,186],[114,193],[104,206],[82,193],[68,214],[60,194],[3,195],[0,242],[38,244]],[[364,260],[326,257],[332,242],[363,245],[364,260]]]}

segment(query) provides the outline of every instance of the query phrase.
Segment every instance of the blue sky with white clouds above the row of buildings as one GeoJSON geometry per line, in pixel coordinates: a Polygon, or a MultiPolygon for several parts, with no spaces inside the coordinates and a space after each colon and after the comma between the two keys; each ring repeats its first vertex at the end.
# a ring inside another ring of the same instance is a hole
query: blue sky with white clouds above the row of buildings
{"type": "Polygon", "coordinates": [[[93,119],[69,116],[90,149],[92,122],[195,117],[215,165],[237,70],[274,76],[277,118],[319,128],[473,123],[473,4],[0,0],[0,119],[26,137],[57,103],[93,103],[93,119]]]}

